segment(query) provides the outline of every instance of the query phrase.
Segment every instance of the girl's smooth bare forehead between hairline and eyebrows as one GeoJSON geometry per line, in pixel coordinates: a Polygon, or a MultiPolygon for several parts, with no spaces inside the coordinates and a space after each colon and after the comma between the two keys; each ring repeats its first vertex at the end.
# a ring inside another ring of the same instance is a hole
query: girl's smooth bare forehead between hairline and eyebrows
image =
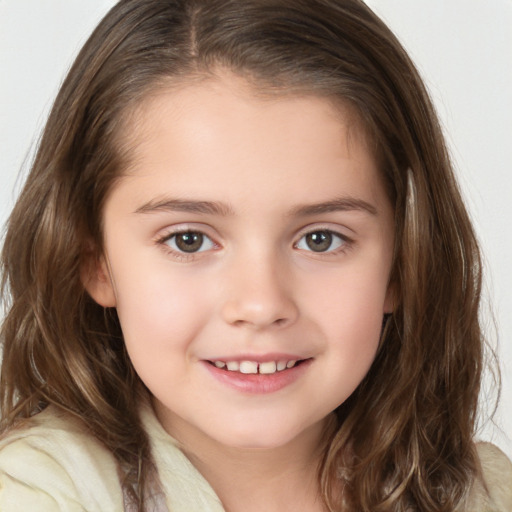
{"type": "Polygon", "coordinates": [[[159,88],[127,119],[123,175],[154,191],[187,188],[207,196],[220,182],[226,198],[286,188],[306,203],[315,190],[325,196],[345,180],[358,185],[358,194],[379,192],[358,116],[326,97],[255,90],[227,75],[159,88]]]}

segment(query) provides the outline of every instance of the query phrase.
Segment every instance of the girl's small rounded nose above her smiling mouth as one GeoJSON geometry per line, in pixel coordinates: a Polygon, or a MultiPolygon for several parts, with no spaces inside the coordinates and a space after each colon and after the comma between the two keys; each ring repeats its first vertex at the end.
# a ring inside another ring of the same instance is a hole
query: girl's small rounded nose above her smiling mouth
{"type": "Polygon", "coordinates": [[[227,271],[222,316],[225,322],[253,330],[285,327],[299,315],[293,282],[274,258],[254,256],[227,271]]]}

